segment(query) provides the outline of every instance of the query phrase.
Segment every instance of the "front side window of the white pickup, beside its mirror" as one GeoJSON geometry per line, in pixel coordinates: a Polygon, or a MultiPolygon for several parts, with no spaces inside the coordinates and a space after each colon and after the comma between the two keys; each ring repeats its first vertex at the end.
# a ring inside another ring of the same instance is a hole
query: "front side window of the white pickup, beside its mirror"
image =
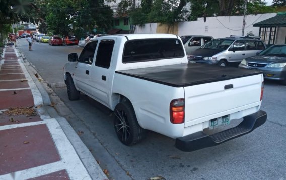
{"type": "Polygon", "coordinates": [[[87,43],[79,57],[79,62],[91,65],[93,62],[93,56],[95,53],[96,46],[97,40],[90,41],[89,43],[87,43]]]}

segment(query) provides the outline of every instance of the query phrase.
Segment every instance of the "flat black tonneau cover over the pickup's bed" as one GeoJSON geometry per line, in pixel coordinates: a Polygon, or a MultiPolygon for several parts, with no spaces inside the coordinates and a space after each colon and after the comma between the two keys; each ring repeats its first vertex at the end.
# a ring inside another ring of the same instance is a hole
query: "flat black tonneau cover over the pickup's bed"
{"type": "Polygon", "coordinates": [[[173,87],[185,87],[261,74],[261,71],[198,63],[115,71],[173,87]]]}

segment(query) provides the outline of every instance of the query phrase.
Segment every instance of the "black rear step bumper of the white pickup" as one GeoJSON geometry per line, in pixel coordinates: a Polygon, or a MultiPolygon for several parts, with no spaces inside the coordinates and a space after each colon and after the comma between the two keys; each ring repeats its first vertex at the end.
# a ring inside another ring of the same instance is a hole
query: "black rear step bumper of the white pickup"
{"type": "Polygon", "coordinates": [[[213,134],[206,135],[202,131],[176,139],[175,146],[181,151],[195,151],[206,147],[216,146],[231,139],[252,132],[266,122],[266,112],[260,110],[244,117],[244,120],[236,127],[213,134]]]}

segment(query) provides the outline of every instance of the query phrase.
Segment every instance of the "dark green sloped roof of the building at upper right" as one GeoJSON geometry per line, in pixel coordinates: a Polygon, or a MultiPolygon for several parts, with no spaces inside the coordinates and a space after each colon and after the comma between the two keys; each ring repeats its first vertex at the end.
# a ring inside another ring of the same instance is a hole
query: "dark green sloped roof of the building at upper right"
{"type": "Polygon", "coordinates": [[[253,24],[254,27],[286,27],[286,12],[277,13],[276,16],[253,24]]]}

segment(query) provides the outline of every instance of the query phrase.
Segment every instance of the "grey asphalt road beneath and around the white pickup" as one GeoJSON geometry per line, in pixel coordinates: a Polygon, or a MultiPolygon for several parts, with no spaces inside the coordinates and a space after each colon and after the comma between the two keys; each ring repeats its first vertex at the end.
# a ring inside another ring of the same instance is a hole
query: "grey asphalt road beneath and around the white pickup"
{"type": "MultiPolygon", "coordinates": [[[[49,46],[20,39],[18,49],[48,84],[63,84],[67,54],[77,46],[49,46]]],[[[122,145],[113,129],[113,115],[103,105],[81,95],[69,101],[65,87],[53,88],[68,110],[57,111],[68,119],[110,179],[277,179],[286,180],[286,86],[265,81],[261,109],[267,122],[252,133],[216,147],[182,152],[175,140],[154,132],[137,145],[122,145]],[[160,179],[160,178],[159,178],[160,179]]],[[[57,102],[60,103],[60,102],[57,102]]],[[[203,110],[203,109],[202,109],[203,110]]]]}

